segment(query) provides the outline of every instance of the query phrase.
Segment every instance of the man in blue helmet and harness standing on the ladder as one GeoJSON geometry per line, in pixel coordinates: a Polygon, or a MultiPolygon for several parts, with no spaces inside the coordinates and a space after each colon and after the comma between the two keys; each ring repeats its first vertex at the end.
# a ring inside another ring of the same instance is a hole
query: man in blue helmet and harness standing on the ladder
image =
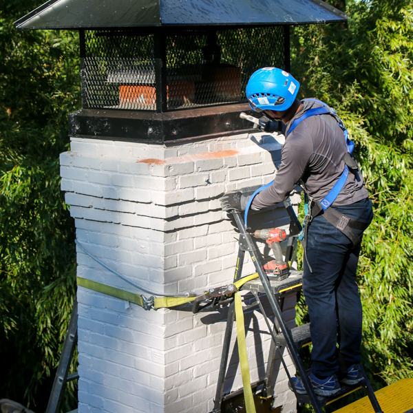
{"type": "MultiPolygon", "coordinates": [[[[309,379],[316,394],[332,396],[340,381],[363,380],[357,367],[362,308],[356,271],[372,202],[341,119],[320,100],[300,101],[298,90],[298,81],[276,67],[257,70],[246,86],[251,109],[282,120],[286,136],[275,180],[253,197],[251,209],[283,202],[299,182],[308,195],[303,293],[313,342],[309,379]]],[[[247,201],[242,191],[231,191],[221,198],[222,209],[242,211],[247,201]]],[[[306,393],[299,377],[292,381],[297,393],[306,393]]]]}

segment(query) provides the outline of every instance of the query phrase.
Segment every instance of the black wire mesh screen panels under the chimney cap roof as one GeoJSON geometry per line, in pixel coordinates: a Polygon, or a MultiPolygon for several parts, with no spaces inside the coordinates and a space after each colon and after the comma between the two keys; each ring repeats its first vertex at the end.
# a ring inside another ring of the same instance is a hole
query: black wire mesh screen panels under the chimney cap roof
{"type": "MultiPolygon", "coordinates": [[[[83,107],[156,109],[154,34],[85,31],[83,107]]],[[[246,102],[260,67],[286,67],[282,26],[166,35],[167,110],[246,102]]]]}

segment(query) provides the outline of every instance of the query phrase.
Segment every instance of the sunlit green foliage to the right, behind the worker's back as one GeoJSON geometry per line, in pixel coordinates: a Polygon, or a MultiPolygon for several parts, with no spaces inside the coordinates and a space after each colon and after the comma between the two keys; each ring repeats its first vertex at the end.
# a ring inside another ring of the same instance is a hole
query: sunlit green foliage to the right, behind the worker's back
{"type": "Polygon", "coordinates": [[[346,12],[346,25],[293,30],[292,72],[301,97],[345,121],[374,205],[359,286],[364,363],[378,388],[413,377],[413,2],[351,0],[346,12]]]}

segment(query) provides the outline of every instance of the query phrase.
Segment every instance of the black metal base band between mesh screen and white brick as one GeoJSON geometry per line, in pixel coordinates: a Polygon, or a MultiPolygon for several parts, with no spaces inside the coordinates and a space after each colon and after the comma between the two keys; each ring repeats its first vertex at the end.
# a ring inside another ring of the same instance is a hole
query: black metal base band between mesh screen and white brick
{"type": "Polygon", "coordinates": [[[251,123],[240,118],[241,112],[252,111],[247,103],[166,113],[81,109],[69,115],[69,135],[151,143],[226,136],[251,130],[251,123]]]}

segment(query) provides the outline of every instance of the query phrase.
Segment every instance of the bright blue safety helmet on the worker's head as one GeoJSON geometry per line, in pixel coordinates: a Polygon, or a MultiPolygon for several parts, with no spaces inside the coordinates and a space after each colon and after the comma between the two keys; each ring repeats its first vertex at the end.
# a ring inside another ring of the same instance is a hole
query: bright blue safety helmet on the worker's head
{"type": "Polygon", "coordinates": [[[299,83],[289,73],[277,67],[263,67],[248,81],[246,98],[255,112],[283,111],[293,105],[298,89],[299,83]]]}

